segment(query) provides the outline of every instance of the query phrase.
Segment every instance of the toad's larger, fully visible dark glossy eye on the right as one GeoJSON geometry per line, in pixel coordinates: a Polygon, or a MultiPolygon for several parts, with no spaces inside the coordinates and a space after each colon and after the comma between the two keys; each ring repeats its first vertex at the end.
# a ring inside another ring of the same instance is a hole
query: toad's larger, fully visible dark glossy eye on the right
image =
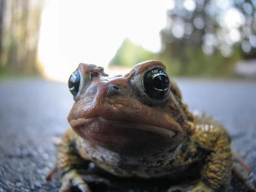
{"type": "Polygon", "coordinates": [[[169,95],[170,81],[165,70],[154,68],[143,77],[145,93],[152,99],[165,99],[169,95]]]}

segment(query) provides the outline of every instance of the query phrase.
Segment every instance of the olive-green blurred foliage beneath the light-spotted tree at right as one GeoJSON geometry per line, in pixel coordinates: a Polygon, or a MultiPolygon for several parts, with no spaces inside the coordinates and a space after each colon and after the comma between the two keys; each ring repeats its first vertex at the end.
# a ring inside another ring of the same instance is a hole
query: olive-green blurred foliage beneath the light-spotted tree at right
{"type": "Polygon", "coordinates": [[[233,66],[241,60],[239,46],[233,47],[230,57],[224,57],[216,49],[212,55],[206,55],[201,46],[187,46],[178,55],[172,52],[160,54],[160,61],[166,64],[167,72],[172,76],[229,77],[233,75],[233,66]]]}

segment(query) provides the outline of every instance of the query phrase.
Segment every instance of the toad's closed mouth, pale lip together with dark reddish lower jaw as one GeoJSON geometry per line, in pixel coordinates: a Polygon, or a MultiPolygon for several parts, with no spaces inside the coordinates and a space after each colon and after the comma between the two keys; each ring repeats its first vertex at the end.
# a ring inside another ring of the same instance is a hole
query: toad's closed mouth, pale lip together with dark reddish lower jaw
{"type": "Polygon", "coordinates": [[[70,125],[82,138],[102,145],[155,142],[170,139],[176,132],[171,127],[163,128],[129,120],[105,119],[101,116],[72,119],[70,125]]]}

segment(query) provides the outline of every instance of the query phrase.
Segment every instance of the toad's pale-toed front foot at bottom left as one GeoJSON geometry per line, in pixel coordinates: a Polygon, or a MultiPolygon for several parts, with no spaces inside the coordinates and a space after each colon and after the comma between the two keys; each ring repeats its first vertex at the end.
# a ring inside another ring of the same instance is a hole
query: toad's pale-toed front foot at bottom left
{"type": "Polygon", "coordinates": [[[62,186],[59,192],[70,192],[72,189],[79,189],[81,192],[91,192],[87,183],[105,184],[110,186],[109,180],[96,175],[87,175],[73,169],[67,172],[61,179],[62,186]]]}

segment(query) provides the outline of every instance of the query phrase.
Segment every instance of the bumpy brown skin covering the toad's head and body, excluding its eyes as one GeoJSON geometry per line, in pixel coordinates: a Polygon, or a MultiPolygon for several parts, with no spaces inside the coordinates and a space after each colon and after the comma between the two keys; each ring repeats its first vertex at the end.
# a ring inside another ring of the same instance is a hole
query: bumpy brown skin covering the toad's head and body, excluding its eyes
{"type": "Polygon", "coordinates": [[[71,128],[58,146],[60,191],[76,185],[89,192],[86,181],[92,179],[108,183],[86,171],[89,162],[119,177],[170,180],[198,165],[195,185],[170,186],[169,192],[224,192],[233,170],[253,191],[251,171],[231,151],[227,131],[211,116],[189,112],[174,81],[166,98],[145,93],[143,76],[155,67],[165,70],[160,61],[146,61],[125,76],[109,78],[102,67],[79,64],[83,80],[67,118],[71,128]]]}

